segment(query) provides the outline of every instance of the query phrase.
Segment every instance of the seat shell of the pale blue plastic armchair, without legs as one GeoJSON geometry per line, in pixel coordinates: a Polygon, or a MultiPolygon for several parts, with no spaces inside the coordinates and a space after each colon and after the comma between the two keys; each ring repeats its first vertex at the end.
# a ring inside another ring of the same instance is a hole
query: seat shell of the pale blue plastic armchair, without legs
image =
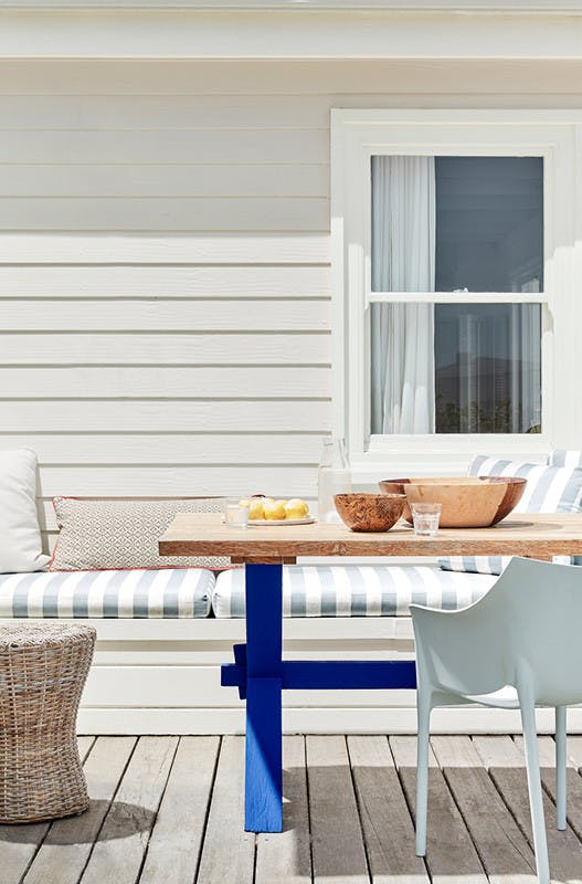
{"type": "Polygon", "coordinates": [[[434,683],[469,695],[527,687],[536,703],[554,706],[582,702],[582,568],[514,558],[470,608],[411,612],[434,683]]]}

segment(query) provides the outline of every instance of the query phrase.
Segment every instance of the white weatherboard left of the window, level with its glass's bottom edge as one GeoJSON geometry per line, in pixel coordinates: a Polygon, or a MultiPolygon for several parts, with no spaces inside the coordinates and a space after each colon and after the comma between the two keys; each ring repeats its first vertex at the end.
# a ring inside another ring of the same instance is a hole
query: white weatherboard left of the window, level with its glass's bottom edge
{"type": "Polygon", "coordinates": [[[0,429],[39,432],[301,432],[329,431],[327,401],[0,400],[0,429]]]}

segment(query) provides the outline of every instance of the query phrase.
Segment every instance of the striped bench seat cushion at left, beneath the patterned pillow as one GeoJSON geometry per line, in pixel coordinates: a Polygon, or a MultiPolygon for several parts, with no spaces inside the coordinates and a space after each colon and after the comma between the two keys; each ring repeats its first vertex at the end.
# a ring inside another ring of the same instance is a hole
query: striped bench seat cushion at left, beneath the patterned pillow
{"type": "Polygon", "coordinates": [[[0,617],[204,618],[213,587],[198,568],[0,575],[0,617]]]}

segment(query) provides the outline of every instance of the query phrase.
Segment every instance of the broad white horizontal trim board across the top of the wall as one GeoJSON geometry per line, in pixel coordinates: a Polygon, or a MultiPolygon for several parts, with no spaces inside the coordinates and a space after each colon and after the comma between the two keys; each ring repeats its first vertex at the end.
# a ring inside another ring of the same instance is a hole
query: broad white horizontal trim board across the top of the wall
{"type": "Polygon", "coordinates": [[[581,59],[579,11],[4,6],[0,57],[581,59]]]}

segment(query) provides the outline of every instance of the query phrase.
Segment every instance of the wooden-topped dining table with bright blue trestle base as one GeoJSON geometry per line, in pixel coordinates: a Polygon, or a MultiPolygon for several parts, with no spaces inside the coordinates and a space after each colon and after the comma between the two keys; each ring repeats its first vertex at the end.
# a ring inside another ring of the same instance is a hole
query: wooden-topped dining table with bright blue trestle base
{"type": "Polygon", "coordinates": [[[159,541],[161,556],[230,556],[245,565],[246,644],[221,683],[246,698],[245,829],[283,828],[282,691],[413,688],[413,661],[284,661],[282,565],[297,556],[582,555],[582,514],[514,515],[493,528],[441,529],[415,537],[399,523],[382,534],[339,524],[227,528],[216,514],[179,514],[159,541]]]}

